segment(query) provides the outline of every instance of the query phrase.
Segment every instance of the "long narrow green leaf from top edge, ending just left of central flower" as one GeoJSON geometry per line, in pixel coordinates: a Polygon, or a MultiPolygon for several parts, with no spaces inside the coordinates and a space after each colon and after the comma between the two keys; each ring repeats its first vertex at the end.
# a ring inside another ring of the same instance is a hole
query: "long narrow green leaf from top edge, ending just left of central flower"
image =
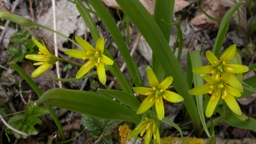
{"type": "Polygon", "coordinates": [[[104,25],[108,29],[110,35],[113,37],[113,39],[118,47],[118,50],[121,52],[121,54],[124,58],[126,66],[130,72],[132,79],[133,79],[133,83],[136,86],[143,85],[143,81],[140,76],[140,73],[137,73],[137,70],[136,70],[138,68],[135,65],[134,61],[132,60],[130,52],[125,44],[124,38],[121,35],[118,27],[116,26],[115,21],[113,20],[110,13],[106,9],[106,6],[100,0],[89,0],[89,2],[92,5],[93,9],[99,15],[100,20],[104,23],[104,25]]]}

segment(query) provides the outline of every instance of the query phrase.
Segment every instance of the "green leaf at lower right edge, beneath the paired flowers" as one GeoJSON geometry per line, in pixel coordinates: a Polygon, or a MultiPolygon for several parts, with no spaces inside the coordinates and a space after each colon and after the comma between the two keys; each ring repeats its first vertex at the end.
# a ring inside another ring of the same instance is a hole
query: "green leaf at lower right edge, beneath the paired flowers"
{"type": "Polygon", "coordinates": [[[233,114],[229,114],[226,119],[223,119],[227,124],[241,129],[256,131],[256,120],[248,117],[246,122],[239,121],[233,114]]]}

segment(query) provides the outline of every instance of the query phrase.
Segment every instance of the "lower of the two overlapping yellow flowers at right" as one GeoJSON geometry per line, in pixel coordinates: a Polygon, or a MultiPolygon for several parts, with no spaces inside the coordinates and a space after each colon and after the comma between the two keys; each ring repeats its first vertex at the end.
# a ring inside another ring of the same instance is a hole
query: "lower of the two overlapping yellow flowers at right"
{"type": "Polygon", "coordinates": [[[199,95],[199,94],[205,94],[205,93],[212,94],[211,99],[207,104],[207,107],[205,110],[206,117],[212,116],[220,97],[225,100],[228,107],[235,114],[242,115],[241,109],[235,99],[235,97],[240,97],[241,93],[238,90],[228,85],[230,82],[230,74],[227,73],[222,75],[219,78],[219,80],[204,74],[202,74],[201,76],[208,83],[195,87],[194,89],[189,91],[189,94],[191,95],[199,95]]]}

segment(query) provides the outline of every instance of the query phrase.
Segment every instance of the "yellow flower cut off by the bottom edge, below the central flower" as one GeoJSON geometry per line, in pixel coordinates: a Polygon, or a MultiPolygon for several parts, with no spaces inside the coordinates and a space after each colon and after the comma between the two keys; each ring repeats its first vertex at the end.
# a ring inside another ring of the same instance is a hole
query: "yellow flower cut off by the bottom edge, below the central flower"
{"type": "Polygon", "coordinates": [[[134,137],[135,135],[138,135],[138,134],[140,134],[140,136],[142,137],[145,131],[147,131],[145,136],[145,144],[149,143],[149,141],[151,140],[152,134],[154,135],[154,139],[157,141],[157,143],[161,143],[159,129],[155,119],[154,118],[145,118],[145,119],[146,120],[141,122],[139,125],[137,125],[136,128],[127,135],[127,137],[134,137]]]}

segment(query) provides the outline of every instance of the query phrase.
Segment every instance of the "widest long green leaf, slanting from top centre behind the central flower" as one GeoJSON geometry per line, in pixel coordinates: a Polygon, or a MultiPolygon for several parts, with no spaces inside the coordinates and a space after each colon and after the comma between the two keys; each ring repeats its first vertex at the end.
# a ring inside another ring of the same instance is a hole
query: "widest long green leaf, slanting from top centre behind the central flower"
{"type": "Polygon", "coordinates": [[[193,122],[195,133],[199,133],[201,122],[193,97],[188,93],[189,86],[175,55],[170,49],[161,29],[145,7],[138,0],[116,0],[124,12],[148,42],[166,76],[173,77],[175,90],[184,98],[185,106],[193,122]]]}

